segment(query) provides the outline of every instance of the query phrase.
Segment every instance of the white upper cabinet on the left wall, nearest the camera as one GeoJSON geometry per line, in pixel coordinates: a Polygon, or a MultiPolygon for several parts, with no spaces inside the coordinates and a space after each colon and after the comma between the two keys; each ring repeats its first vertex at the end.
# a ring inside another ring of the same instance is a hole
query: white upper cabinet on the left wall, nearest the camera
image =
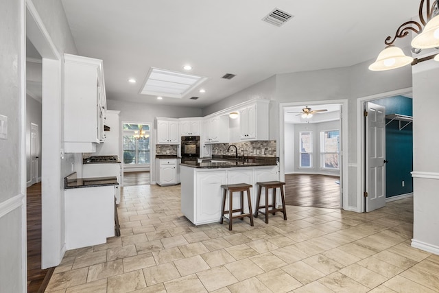
{"type": "Polygon", "coordinates": [[[64,54],[64,152],[95,152],[105,111],[102,60],[64,54]]]}

